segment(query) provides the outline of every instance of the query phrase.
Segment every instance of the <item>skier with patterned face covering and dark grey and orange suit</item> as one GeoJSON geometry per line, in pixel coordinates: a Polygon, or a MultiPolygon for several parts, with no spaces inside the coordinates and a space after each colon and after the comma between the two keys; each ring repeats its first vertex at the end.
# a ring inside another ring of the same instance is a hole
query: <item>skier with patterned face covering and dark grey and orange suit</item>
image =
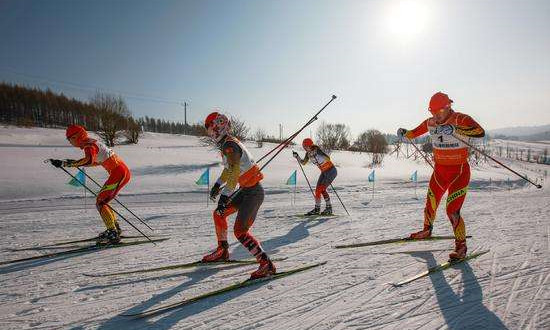
{"type": "Polygon", "coordinates": [[[263,174],[246,147],[236,137],[231,136],[231,124],[225,115],[218,112],[209,114],[205,120],[205,127],[208,135],[221,150],[224,170],[210,190],[212,199],[221,193],[218,206],[213,213],[218,247],[211,254],[204,256],[202,261],[229,260],[227,217],[237,212],[233,233],[260,264],[250,277],[255,279],[273,275],[276,272],[275,265],[262,249],[260,242],[249,231],[264,201],[264,189],[260,184],[263,174]],[[222,188],[224,183],[225,186],[222,188]],[[230,200],[229,196],[237,184],[240,190],[230,200]]]}

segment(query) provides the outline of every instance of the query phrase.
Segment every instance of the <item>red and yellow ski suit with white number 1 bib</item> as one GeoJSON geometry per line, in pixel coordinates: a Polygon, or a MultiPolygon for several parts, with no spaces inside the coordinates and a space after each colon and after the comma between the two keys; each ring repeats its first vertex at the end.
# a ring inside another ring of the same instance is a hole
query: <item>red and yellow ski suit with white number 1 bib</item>
{"type": "Polygon", "coordinates": [[[460,209],[466,198],[470,182],[470,165],[468,164],[468,146],[460,142],[453,135],[437,133],[440,125],[452,125],[455,133],[467,138],[479,138],[485,131],[470,116],[455,112],[451,113],[443,123],[436,123],[434,118],[424,120],[418,127],[407,131],[405,137],[417,138],[430,133],[433,145],[435,168],[430,178],[426,207],[424,208],[424,230],[432,229],[439,202],[443,194],[447,195],[447,216],[453,226],[457,241],[466,239],[466,227],[460,215],[460,209]]]}

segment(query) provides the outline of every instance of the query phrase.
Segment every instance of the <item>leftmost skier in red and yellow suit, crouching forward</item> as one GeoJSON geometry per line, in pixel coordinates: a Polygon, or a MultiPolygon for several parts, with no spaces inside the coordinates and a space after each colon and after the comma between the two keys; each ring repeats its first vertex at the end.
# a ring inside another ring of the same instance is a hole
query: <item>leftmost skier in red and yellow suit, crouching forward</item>
{"type": "Polygon", "coordinates": [[[52,159],[51,163],[55,167],[101,165],[109,173],[109,178],[103,184],[96,198],[96,208],[107,227],[107,230],[99,234],[97,240],[98,243],[117,244],[120,242],[121,230],[109,202],[130,181],[130,170],[113,150],[102,142],[90,138],[84,127],[70,125],[67,127],[66,137],[71,145],[84,151],[84,158],[79,160],[52,159]]]}

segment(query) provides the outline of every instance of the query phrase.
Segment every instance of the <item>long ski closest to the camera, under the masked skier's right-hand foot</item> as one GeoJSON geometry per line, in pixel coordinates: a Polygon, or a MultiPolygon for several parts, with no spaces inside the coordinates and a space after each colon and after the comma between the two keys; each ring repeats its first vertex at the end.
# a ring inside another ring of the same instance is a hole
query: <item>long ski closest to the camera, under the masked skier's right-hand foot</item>
{"type": "Polygon", "coordinates": [[[207,293],[201,294],[199,296],[189,298],[189,299],[185,299],[185,300],[173,303],[173,304],[167,304],[167,305],[160,306],[160,307],[157,307],[157,308],[149,309],[149,310],[146,310],[146,311],[141,312],[141,313],[122,314],[122,316],[143,318],[143,317],[149,317],[149,316],[161,314],[161,313],[167,312],[169,310],[179,308],[179,307],[183,307],[185,305],[194,303],[194,302],[199,301],[199,300],[214,297],[214,296],[226,293],[226,292],[238,290],[238,289],[248,287],[248,286],[251,286],[251,285],[255,285],[255,284],[258,284],[258,283],[264,283],[264,282],[272,281],[272,280],[275,280],[275,279],[278,279],[278,278],[281,278],[281,277],[285,277],[285,276],[288,276],[288,275],[296,274],[298,272],[306,271],[308,269],[319,267],[319,266],[322,266],[326,263],[327,262],[324,261],[324,262],[320,262],[320,263],[316,263],[316,264],[312,264],[312,265],[308,265],[308,266],[304,266],[304,267],[294,268],[294,269],[287,270],[287,271],[284,271],[284,272],[276,273],[275,275],[270,276],[270,277],[258,278],[258,279],[254,279],[254,280],[247,279],[245,281],[235,283],[235,284],[227,286],[225,288],[218,289],[218,290],[211,291],[211,292],[207,292],[207,293]]]}

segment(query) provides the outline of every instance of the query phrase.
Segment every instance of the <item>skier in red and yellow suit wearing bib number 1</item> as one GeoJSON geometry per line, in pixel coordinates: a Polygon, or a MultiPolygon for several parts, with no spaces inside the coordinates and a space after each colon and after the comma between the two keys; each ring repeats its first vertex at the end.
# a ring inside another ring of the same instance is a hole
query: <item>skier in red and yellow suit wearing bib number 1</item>
{"type": "Polygon", "coordinates": [[[437,92],[430,99],[429,111],[432,117],[424,120],[413,130],[400,128],[397,135],[414,139],[430,133],[433,145],[434,172],[430,178],[426,207],[424,208],[424,229],[412,233],[412,239],[431,237],[437,207],[443,194],[447,195],[447,216],[453,226],[455,250],[449,254],[451,260],[466,256],[466,227],[460,209],[466,198],[470,182],[468,147],[454,137],[455,134],[467,138],[481,138],[485,131],[470,116],[455,112],[453,101],[447,94],[437,92]]]}

